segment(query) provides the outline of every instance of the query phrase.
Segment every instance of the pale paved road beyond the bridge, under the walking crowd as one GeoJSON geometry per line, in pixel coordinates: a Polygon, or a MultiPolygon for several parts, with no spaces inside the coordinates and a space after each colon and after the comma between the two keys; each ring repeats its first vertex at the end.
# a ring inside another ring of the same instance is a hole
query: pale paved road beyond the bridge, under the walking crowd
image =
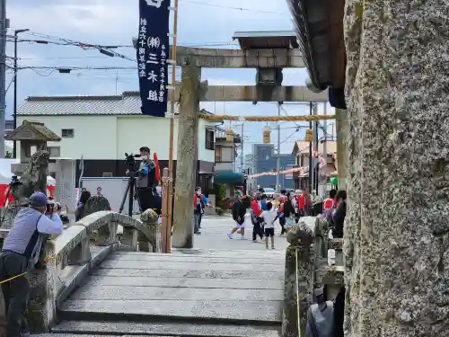
{"type": "MultiPolygon", "coordinates": [[[[201,223],[201,235],[195,235],[193,239],[194,248],[198,249],[215,249],[215,250],[263,250],[265,251],[265,243],[252,243],[252,224],[249,217],[245,222],[245,239],[241,239],[241,235],[234,234],[233,239],[229,239],[227,234],[233,227],[234,222],[230,216],[206,216],[201,223]]],[[[286,236],[279,236],[280,226],[275,228],[275,246],[277,250],[285,251],[287,243],[286,236]]]]}

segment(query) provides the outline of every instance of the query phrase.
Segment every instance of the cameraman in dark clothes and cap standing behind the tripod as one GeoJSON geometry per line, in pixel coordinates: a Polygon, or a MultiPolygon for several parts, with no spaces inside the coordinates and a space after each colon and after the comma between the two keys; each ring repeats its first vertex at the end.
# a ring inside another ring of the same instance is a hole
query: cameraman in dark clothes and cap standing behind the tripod
{"type": "Polygon", "coordinates": [[[146,209],[157,209],[157,213],[160,214],[162,200],[157,194],[156,186],[156,164],[150,159],[150,148],[142,146],[139,149],[142,162],[139,164],[137,171],[137,193],[140,200],[140,206],[142,212],[146,209]]]}

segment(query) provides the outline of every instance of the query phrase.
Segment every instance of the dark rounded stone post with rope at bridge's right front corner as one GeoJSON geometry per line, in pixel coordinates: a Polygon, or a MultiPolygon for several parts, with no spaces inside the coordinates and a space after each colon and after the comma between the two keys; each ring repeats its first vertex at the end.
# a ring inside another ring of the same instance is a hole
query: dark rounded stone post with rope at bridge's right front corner
{"type": "Polygon", "coordinates": [[[282,337],[304,337],[314,283],[313,230],[300,223],[286,239],[290,245],[286,248],[282,337]]]}

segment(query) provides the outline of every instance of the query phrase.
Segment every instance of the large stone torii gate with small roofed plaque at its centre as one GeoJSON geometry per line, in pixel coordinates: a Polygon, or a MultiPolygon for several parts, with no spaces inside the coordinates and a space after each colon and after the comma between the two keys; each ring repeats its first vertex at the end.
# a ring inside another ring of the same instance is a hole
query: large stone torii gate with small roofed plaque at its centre
{"type": "Polygon", "coordinates": [[[196,182],[196,135],[199,102],[327,102],[327,93],[313,93],[305,86],[282,86],[282,69],[304,67],[293,31],[237,32],[242,49],[177,48],[182,67],[178,155],[173,211],[172,244],[193,247],[193,194],[196,182]],[[256,68],[256,85],[200,84],[201,68],[256,68]]]}

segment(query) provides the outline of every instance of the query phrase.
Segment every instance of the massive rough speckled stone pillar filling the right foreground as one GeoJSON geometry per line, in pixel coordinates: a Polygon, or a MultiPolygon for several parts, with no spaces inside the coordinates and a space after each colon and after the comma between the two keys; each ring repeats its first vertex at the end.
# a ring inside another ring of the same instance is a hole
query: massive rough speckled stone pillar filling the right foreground
{"type": "Polygon", "coordinates": [[[447,335],[448,23],[443,1],[346,3],[348,337],[447,335]]]}

